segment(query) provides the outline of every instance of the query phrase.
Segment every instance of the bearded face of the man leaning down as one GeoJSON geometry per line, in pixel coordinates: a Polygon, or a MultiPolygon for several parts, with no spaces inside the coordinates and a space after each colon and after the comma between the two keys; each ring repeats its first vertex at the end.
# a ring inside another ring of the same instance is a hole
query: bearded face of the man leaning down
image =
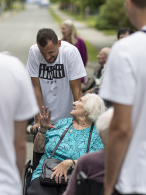
{"type": "Polygon", "coordinates": [[[59,53],[59,47],[61,46],[61,41],[58,41],[57,45],[54,45],[52,41],[49,41],[48,44],[45,47],[42,47],[38,44],[39,50],[42,54],[42,56],[45,58],[45,60],[48,63],[55,62],[58,53],[59,53]]]}

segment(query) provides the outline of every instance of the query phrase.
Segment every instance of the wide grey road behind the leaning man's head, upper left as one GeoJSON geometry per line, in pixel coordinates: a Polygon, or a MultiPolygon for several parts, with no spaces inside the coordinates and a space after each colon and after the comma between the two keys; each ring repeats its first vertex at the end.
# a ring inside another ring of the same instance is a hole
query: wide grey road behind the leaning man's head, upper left
{"type": "Polygon", "coordinates": [[[9,51],[26,64],[29,48],[36,43],[38,30],[48,27],[61,36],[60,28],[48,9],[26,5],[24,11],[0,20],[0,51],[9,51]]]}

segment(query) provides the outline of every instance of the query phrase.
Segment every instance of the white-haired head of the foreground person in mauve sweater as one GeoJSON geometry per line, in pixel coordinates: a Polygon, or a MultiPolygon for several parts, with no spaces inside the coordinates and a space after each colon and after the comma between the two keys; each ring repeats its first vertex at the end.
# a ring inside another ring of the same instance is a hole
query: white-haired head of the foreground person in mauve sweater
{"type": "Polygon", "coordinates": [[[109,108],[106,112],[99,116],[96,121],[96,129],[102,137],[103,144],[106,144],[108,130],[113,118],[114,109],[109,108]]]}

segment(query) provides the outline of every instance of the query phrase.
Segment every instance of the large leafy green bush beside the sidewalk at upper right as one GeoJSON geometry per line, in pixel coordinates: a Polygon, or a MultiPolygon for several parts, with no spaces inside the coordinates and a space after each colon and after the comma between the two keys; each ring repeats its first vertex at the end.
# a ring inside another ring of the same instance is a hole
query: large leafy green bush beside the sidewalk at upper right
{"type": "Polygon", "coordinates": [[[124,7],[123,0],[107,0],[99,9],[96,28],[99,30],[132,28],[124,7]]]}

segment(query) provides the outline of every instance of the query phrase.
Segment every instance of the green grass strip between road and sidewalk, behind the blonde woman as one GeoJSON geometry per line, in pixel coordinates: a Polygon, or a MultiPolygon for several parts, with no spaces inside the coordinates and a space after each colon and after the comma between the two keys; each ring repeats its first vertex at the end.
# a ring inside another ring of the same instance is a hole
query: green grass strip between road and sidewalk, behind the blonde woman
{"type": "MultiPolygon", "coordinates": [[[[54,18],[54,20],[59,24],[59,26],[61,26],[61,22],[62,20],[54,13],[53,9],[51,9],[51,7],[49,8],[50,14],[52,15],[52,17],[54,18]]],[[[97,61],[97,54],[99,53],[99,51],[93,47],[88,41],[84,40],[86,47],[87,47],[87,52],[88,52],[88,61],[97,61]]]]}

